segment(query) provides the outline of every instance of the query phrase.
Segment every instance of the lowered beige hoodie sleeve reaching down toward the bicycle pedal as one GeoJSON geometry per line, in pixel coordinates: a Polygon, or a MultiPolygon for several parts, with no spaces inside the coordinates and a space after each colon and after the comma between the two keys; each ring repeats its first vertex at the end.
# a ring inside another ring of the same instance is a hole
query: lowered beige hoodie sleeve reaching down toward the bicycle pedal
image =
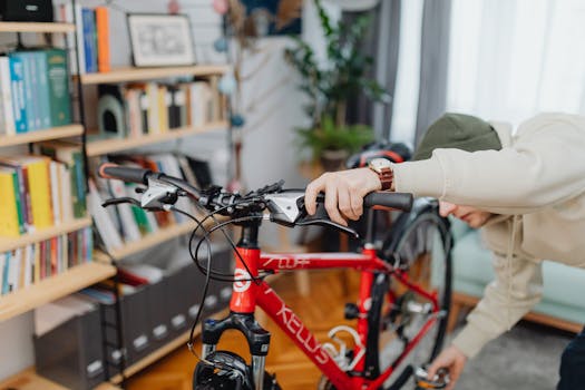
{"type": "MultiPolygon", "coordinates": [[[[471,261],[471,260],[470,260],[471,261]]],[[[467,318],[467,324],[452,343],[468,358],[509,330],[540,300],[542,264],[521,257],[510,262],[495,255],[496,280],[467,318]]]]}

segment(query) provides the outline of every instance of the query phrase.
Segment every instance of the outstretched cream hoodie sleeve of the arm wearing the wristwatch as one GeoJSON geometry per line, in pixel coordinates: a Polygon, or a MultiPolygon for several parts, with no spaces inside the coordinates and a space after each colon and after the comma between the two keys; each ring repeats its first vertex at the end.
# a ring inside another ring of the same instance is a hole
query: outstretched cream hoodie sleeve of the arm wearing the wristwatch
{"type": "Polygon", "coordinates": [[[510,147],[475,153],[436,149],[393,166],[397,192],[433,196],[498,214],[518,214],[585,188],[585,121],[548,115],[525,123],[510,147]]]}

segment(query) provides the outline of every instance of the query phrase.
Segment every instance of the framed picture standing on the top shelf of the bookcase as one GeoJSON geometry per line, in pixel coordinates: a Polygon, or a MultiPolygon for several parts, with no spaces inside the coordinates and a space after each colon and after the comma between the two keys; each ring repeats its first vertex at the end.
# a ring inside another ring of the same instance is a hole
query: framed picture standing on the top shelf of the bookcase
{"type": "Polygon", "coordinates": [[[184,14],[130,13],[128,31],[136,67],[195,64],[189,20],[184,14]]]}

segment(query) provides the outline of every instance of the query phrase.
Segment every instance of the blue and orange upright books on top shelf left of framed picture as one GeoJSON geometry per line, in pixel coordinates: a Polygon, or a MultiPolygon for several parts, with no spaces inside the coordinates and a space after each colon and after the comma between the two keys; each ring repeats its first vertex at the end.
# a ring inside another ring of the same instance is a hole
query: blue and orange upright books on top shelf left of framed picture
{"type": "Polygon", "coordinates": [[[71,2],[55,7],[55,21],[76,23],[76,32],[68,36],[68,42],[75,42],[69,50],[71,71],[75,75],[109,71],[109,13],[107,7],[87,8],[71,2]],[[77,65],[79,61],[79,69],[77,65]]]}

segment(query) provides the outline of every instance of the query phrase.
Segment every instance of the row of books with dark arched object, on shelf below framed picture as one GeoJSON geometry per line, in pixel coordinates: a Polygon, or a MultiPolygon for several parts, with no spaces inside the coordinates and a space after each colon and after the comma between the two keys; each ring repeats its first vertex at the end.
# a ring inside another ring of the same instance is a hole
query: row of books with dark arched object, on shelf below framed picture
{"type": "Polygon", "coordinates": [[[98,92],[98,127],[105,136],[140,137],[202,127],[222,117],[222,99],[207,81],[100,85],[98,92]]]}

